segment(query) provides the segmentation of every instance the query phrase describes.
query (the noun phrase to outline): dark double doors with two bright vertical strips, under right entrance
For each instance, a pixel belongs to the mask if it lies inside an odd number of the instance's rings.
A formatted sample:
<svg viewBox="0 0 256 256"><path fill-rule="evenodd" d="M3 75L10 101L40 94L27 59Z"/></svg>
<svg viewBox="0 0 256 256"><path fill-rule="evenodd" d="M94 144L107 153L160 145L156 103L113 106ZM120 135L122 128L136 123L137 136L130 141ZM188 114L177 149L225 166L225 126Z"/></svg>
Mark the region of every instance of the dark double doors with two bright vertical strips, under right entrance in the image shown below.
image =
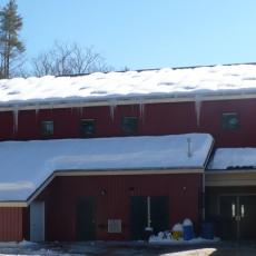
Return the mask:
<svg viewBox="0 0 256 256"><path fill-rule="evenodd" d="M256 239L256 196L221 196L219 207L224 239Z"/></svg>

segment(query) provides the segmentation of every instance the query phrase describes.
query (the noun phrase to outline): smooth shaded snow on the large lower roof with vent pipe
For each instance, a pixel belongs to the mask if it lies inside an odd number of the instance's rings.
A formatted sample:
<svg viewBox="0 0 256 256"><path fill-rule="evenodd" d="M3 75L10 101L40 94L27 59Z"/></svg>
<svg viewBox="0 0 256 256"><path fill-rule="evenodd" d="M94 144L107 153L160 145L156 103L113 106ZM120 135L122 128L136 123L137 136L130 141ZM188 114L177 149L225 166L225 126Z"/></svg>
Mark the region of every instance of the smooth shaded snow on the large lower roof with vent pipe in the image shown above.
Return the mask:
<svg viewBox="0 0 256 256"><path fill-rule="evenodd" d="M28 199L55 170L204 168L211 144L207 134L0 142L0 200Z"/></svg>

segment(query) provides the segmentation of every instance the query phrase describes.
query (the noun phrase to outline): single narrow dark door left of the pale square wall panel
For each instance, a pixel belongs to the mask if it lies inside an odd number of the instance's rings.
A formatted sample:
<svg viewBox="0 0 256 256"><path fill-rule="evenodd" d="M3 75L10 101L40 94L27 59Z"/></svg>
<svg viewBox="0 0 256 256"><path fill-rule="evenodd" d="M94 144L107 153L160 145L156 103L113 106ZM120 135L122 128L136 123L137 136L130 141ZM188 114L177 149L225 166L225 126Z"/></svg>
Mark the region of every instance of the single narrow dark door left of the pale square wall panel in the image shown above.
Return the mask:
<svg viewBox="0 0 256 256"><path fill-rule="evenodd" d="M96 239L96 200L81 197L77 201L77 240Z"/></svg>

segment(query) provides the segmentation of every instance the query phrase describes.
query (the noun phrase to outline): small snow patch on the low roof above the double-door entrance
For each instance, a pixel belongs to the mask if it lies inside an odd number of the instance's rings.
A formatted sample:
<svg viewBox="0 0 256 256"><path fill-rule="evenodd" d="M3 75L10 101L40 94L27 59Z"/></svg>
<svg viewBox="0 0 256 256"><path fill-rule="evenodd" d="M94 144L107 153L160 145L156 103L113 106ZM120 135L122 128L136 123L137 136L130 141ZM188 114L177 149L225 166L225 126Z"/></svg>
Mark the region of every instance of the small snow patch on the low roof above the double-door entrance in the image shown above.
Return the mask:
<svg viewBox="0 0 256 256"><path fill-rule="evenodd" d="M256 148L218 148L207 169L252 169L256 168Z"/></svg>

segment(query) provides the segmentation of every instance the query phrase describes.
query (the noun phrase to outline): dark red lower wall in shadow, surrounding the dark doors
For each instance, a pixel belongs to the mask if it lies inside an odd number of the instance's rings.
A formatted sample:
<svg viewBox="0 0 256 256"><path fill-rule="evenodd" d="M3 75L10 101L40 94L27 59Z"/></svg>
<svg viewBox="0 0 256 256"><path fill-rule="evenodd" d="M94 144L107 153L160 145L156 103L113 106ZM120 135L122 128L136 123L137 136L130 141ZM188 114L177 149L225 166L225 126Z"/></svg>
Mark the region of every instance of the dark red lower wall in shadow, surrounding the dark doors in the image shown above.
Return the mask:
<svg viewBox="0 0 256 256"><path fill-rule="evenodd" d="M199 174L57 177L38 199L46 201L48 240L76 240L76 201L81 196L96 198L97 239L129 239L130 196L168 196L171 228L186 217L198 224L199 187ZM102 188L107 191L105 196L100 195ZM122 220L121 234L107 233L111 218Z"/></svg>

